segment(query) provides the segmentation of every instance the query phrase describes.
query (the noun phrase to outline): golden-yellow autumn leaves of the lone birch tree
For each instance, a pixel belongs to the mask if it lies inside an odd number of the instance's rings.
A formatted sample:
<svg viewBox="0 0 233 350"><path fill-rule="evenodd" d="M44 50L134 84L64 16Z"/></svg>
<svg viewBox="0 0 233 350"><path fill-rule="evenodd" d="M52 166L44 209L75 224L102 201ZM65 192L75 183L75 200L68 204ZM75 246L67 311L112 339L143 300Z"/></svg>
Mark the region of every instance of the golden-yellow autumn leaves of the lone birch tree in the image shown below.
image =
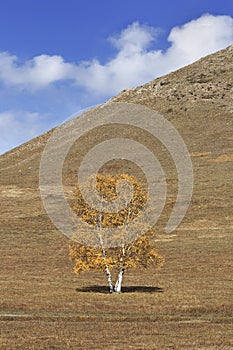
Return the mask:
<svg viewBox="0 0 233 350"><path fill-rule="evenodd" d="M74 211L89 225L99 228L101 237L101 228L122 227L127 231L127 224L130 223L140 211L144 208L147 201L147 194L142 185L132 176L120 174L116 176L97 175L96 179L90 178L85 184L88 191L93 181L96 181L96 189L101 197L106 201L113 201L117 198L117 182L126 180L133 187L133 196L127 207L117 213L102 212L101 216L98 210L88 205L77 187L75 190ZM101 217L101 222L99 222ZM138 227L140 230L140 227ZM128 233L128 232L127 232ZM75 239L75 237L74 237ZM141 269L150 265L161 267L163 258L158 255L155 248L151 245L151 232L147 232L127 243L122 239L122 243L114 248L106 248L103 245L99 247L90 247L72 241L70 244L70 258L74 261L75 273L87 270L104 270L107 268L123 269Z"/></svg>

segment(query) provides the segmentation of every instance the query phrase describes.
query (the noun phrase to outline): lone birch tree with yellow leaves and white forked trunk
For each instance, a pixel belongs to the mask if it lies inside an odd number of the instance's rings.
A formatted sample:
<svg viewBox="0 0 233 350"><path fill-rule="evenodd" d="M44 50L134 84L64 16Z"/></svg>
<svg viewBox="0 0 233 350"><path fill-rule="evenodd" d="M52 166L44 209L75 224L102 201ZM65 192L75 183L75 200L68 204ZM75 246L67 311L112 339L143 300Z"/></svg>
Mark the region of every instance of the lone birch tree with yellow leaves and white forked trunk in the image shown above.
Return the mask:
<svg viewBox="0 0 233 350"><path fill-rule="evenodd" d="M120 189L119 182L121 183ZM96 200L89 196L93 185L96 186L101 198L101 205L98 209L96 209ZM70 258L74 261L75 273L105 270L110 293L120 293L125 270L147 268L151 265L162 266L163 258L151 244L153 232L149 230L140 235L142 224L136 223L132 226L134 219L144 209L147 202L146 191L143 190L139 181L127 174L115 176L98 174L96 177L89 178L83 184L82 189L82 192L79 186L75 189L73 209L81 220L95 228L97 240L96 244L81 244L77 242L76 234L74 234L70 244ZM119 210L116 211L114 206L116 206L116 199L119 198L120 192L123 195L117 202ZM89 203L84 199L88 196ZM127 203L129 198L130 201ZM105 229L112 229L111 241L105 240ZM80 236L80 232L77 234ZM112 269L117 271L115 284L112 281Z"/></svg>

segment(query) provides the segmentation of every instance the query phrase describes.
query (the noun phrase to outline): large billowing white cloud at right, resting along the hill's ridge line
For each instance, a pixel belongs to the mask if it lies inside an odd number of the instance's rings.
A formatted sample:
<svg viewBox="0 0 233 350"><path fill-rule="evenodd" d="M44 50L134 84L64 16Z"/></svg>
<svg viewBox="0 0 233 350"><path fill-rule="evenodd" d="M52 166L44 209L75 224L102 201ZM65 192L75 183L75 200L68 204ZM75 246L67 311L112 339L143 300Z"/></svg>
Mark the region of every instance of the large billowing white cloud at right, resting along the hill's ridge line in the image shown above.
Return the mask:
<svg viewBox="0 0 233 350"><path fill-rule="evenodd" d="M116 57L105 65L90 62L77 76L77 83L102 94L143 84L232 44L233 18L206 14L174 27L165 52L149 49L156 35L154 28L132 24L113 40L119 49Z"/></svg>

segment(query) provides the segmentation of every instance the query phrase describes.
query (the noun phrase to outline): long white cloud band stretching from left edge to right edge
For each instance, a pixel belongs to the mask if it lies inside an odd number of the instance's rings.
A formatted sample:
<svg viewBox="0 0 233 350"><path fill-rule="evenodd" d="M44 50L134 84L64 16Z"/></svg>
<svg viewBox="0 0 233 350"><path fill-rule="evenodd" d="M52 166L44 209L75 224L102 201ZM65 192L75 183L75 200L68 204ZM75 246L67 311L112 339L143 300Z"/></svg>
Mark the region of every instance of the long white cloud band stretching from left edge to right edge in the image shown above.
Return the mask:
<svg viewBox="0 0 233 350"><path fill-rule="evenodd" d="M233 42L233 18L203 15L174 27L165 51L153 50L158 29L135 22L110 42L117 48L114 58L69 63L61 56L41 55L17 64L17 57L0 54L0 80L6 85L41 89L49 84L71 80L80 88L100 96L113 95L166 74Z"/></svg>

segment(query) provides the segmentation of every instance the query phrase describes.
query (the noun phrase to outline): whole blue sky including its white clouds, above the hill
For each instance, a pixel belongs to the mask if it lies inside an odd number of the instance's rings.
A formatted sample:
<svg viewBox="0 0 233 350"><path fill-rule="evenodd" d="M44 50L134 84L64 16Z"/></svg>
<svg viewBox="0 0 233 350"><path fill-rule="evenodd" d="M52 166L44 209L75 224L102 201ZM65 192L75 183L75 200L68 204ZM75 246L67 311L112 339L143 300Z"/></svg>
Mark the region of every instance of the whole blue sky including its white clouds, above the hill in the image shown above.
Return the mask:
<svg viewBox="0 0 233 350"><path fill-rule="evenodd" d="M232 43L229 0L2 0L0 153Z"/></svg>

